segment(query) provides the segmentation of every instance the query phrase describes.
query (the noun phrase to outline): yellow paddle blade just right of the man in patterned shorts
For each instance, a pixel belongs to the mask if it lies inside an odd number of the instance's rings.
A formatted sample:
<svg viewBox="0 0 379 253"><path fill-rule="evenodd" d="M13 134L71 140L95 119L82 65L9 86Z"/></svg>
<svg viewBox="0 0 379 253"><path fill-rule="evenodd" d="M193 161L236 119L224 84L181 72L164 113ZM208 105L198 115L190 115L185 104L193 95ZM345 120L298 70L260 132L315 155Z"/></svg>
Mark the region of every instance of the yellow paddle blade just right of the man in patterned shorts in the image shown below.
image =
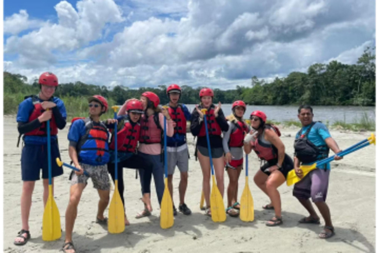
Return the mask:
<svg viewBox="0 0 379 253"><path fill-rule="evenodd" d="M109 206L108 232L111 234L122 233L125 229L124 205L118 192L118 180L114 180L114 194Z"/></svg>

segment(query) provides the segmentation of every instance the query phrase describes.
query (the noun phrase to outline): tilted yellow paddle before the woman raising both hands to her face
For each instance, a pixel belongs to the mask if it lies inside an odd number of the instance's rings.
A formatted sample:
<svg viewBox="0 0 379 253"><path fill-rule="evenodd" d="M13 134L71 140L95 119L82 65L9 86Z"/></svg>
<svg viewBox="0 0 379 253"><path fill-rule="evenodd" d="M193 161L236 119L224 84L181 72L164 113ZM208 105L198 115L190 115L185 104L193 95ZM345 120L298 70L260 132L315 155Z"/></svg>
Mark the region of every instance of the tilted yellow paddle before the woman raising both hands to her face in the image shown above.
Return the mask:
<svg viewBox="0 0 379 253"><path fill-rule="evenodd" d="M216 180L215 180L215 173L213 170L212 153L211 153L211 143L209 142L209 135L208 135L206 111L207 109L201 109L201 112L204 114L205 133L207 137L208 154L209 154L209 161L211 163L211 172L212 172L211 214L212 214L212 220L214 222L224 222L227 219L227 213L225 212L223 196L221 196L221 193L219 191L219 188L217 187Z"/></svg>

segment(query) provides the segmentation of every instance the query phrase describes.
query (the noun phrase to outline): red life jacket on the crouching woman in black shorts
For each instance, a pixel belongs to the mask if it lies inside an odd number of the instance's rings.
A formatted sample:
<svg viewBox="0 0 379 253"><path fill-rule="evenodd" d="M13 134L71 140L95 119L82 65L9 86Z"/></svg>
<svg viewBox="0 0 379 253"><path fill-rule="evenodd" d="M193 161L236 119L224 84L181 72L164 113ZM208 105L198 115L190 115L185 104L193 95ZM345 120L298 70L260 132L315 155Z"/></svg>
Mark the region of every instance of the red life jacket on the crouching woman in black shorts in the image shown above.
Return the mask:
<svg viewBox="0 0 379 253"><path fill-rule="evenodd" d="M273 129L280 137L281 133L278 127L270 124L265 124L265 129L266 128ZM251 141L250 144L252 146L252 149L261 160L270 161L278 157L278 149L272 144L263 142L261 138L256 138L254 141Z"/></svg>

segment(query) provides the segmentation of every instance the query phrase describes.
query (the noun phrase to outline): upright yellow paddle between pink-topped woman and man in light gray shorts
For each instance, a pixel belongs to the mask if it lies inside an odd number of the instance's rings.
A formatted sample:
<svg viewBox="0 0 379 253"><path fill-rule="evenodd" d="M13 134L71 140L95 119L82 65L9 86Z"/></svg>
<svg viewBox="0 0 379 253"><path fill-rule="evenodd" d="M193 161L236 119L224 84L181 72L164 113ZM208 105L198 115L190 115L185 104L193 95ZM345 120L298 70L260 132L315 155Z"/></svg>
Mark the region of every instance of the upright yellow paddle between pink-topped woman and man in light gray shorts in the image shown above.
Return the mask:
<svg viewBox="0 0 379 253"><path fill-rule="evenodd" d="M164 107L167 108L167 107ZM166 129L166 117L164 117L164 128L163 128L163 138L164 138L164 192L162 197L162 202L160 203L160 227L163 229L170 228L174 225L174 211L172 205L172 199L170 191L168 190L167 184L167 129Z"/></svg>

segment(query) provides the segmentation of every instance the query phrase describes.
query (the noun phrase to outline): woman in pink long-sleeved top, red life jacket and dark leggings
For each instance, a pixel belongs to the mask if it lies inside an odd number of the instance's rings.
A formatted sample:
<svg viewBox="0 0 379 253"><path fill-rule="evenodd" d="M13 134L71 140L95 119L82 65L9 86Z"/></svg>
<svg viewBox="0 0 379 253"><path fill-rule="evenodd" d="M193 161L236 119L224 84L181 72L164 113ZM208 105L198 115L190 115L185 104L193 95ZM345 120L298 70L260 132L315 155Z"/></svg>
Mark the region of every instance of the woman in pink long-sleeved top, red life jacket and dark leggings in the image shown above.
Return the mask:
<svg viewBox="0 0 379 253"><path fill-rule="evenodd" d="M164 191L164 166L162 157L163 127L164 117L167 118L167 136L174 134L175 123L171 120L166 109L158 108L159 97L150 91L146 91L141 96L145 113L141 117L141 133L139 139L138 154L146 161L152 163L152 167L140 169L140 180L142 187L142 201L145 209L138 213L136 218L151 215L152 205L150 196L150 184L154 177L155 191L160 205Z"/></svg>

